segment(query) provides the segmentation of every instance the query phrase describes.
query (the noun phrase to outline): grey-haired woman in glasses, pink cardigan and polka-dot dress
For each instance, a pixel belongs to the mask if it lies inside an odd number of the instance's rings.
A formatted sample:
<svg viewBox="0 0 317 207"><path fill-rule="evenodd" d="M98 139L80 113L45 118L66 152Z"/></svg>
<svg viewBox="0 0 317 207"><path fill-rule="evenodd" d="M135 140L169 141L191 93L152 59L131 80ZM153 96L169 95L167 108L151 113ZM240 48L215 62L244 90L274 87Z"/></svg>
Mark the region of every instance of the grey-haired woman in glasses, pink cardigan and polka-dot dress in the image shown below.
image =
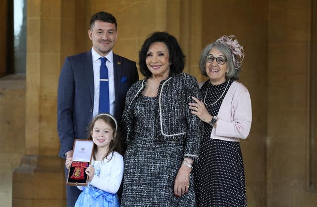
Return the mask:
<svg viewBox="0 0 317 207"><path fill-rule="evenodd" d="M244 166L240 139L251 128L251 99L248 89L238 83L244 58L235 36L222 36L201 53L200 70L209 80L193 97L191 113L204 123L199 160L194 166L198 207L246 207Z"/></svg>

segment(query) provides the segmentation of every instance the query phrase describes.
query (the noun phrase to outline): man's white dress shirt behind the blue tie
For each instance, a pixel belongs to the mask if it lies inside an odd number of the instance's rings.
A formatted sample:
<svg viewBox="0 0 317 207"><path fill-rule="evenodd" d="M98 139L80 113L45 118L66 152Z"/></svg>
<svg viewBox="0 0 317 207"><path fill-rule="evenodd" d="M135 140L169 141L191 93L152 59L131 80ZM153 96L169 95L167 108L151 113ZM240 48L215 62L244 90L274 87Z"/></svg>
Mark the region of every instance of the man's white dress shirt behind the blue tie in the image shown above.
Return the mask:
<svg viewBox="0 0 317 207"><path fill-rule="evenodd" d="M91 48L91 53L93 56L93 69L94 69L94 87L95 87L95 98L94 98L94 111L93 117L99 114L99 85L100 85L100 65L101 58L94 48ZM109 104L110 104L110 114L114 115L115 106L115 94L114 94L114 74L113 74L113 52L112 50L105 56L106 66L108 68L108 83L109 83Z"/></svg>

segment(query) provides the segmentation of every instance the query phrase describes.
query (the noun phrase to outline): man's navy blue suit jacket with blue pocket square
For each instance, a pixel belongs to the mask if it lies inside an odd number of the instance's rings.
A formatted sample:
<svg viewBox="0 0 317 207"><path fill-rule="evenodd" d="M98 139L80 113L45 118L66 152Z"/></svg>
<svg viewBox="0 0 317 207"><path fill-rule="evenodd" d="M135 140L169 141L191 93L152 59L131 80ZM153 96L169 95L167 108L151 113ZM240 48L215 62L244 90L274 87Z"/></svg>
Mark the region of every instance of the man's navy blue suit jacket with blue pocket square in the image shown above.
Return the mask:
<svg viewBox="0 0 317 207"><path fill-rule="evenodd" d="M120 122L129 87L139 80L136 63L113 54L115 119ZM73 149L74 139L86 139L93 118L94 71L91 51L66 57L57 89L59 156Z"/></svg>

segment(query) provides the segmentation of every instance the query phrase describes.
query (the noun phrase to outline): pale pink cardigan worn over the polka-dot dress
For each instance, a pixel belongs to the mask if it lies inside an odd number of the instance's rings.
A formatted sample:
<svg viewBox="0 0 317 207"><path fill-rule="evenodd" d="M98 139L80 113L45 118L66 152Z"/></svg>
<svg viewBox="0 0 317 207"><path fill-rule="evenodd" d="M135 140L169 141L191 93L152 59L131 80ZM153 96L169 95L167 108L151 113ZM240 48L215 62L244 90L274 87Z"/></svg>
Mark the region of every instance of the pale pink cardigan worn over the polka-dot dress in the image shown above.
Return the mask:
<svg viewBox="0 0 317 207"><path fill-rule="evenodd" d="M249 135L252 121L251 99L248 89L234 81L228 89L212 128L211 139L239 141Z"/></svg>

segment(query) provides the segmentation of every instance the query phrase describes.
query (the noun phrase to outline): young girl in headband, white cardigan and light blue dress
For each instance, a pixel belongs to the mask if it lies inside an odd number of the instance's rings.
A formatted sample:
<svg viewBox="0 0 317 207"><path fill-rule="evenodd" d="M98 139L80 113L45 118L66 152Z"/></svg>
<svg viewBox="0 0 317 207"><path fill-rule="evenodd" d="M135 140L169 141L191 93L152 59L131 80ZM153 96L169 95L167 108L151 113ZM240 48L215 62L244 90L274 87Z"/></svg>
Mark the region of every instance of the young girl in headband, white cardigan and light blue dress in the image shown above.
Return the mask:
<svg viewBox="0 0 317 207"><path fill-rule="evenodd" d="M83 192L75 207L119 207L116 192L122 181L123 157L116 152L119 150L117 125L109 114L97 115L90 124L89 139L95 143L93 160L85 170L88 186L77 186ZM72 158L66 160L67 168L71 162Z"/></svg>

